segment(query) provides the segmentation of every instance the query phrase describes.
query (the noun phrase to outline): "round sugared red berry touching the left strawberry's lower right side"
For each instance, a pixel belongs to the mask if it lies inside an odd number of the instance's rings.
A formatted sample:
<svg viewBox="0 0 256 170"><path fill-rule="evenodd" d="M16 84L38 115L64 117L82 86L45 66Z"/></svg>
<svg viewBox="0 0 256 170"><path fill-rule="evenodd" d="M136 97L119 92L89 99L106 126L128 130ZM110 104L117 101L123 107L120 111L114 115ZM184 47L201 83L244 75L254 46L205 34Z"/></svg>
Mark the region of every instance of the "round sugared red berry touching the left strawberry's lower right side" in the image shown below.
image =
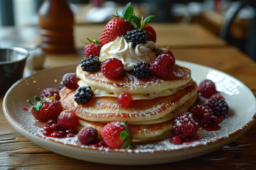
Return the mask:
<svg viewBox="0 0 256 170"><path fill-rule="evenodd" d="M58 116L58 126L62 129L75 128L76 126L76 115L70 110L64 110Z"/></svg>

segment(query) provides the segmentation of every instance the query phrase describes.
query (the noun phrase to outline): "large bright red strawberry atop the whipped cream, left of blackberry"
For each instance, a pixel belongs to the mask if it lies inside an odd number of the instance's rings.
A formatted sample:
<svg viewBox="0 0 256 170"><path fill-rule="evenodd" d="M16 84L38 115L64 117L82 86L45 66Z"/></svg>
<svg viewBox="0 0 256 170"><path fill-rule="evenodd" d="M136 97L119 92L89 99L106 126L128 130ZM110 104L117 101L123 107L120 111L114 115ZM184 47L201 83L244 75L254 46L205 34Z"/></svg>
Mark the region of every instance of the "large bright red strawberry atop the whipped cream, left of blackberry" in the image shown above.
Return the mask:
<svg viewBox="0 0 256 170"><path fill-rule="evenodd" d="M121 18L115 17L106 24L101 33L100 42L102 45L108 44L109 42L114 41L117 37L126 35L127 31L132 31L131 24L125 22L125 20Z"/></svg>

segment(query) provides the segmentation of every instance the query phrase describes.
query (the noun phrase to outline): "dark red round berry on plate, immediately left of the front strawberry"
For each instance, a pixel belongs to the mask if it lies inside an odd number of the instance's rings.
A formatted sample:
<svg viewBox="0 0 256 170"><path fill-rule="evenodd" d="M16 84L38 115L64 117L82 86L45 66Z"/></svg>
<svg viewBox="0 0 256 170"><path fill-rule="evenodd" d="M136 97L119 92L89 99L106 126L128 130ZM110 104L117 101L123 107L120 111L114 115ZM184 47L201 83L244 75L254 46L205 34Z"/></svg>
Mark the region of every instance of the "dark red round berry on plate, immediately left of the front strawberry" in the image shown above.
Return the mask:
<svg viewBox="0 0 256 170"><path fill-rule="evenodd" d="M91 126L87 126L80 130L77 138L83 145L93 144L98 140L98 131Z"/></svg>

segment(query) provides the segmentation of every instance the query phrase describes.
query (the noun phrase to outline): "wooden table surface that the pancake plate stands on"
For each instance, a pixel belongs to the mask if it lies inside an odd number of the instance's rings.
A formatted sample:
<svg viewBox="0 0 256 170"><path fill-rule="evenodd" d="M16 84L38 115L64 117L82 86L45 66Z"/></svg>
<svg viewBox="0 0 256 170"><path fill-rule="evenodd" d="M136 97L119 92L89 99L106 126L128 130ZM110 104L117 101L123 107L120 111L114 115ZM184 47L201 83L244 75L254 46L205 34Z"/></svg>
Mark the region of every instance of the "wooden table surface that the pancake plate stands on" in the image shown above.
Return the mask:
<svg viewBox="0 0 256 170"><path fill-rule="evenodd" d="M202 45L196 48L195 46L189 48L173 48L172 51L177 60L210 66L240 79L256 94L256 63L235 47L225 45L207 47ZM61 62L55 62L60 61L60 57L62 57ZM79 54L47 55L45 68L79 63L78 60L81 57ZM2 107L2 99L3 97L0 97L0 107ZM72 159L41 148L17 132L7 122L3 111L0 110L0 169L215 170L218 168L223 170L252 170L256 168L255 132L256 124L244 135L227 146L207 155L186 161L153 166L112 166Z"/></svg>

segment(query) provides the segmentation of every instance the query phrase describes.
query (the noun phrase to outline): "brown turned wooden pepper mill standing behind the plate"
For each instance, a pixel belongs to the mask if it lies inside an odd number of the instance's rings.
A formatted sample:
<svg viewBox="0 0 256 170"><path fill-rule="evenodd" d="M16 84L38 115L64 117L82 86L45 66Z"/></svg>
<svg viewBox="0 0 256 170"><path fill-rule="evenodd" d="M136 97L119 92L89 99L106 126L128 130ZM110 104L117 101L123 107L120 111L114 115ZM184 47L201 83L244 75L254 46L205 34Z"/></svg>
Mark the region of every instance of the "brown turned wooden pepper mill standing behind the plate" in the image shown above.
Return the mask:
<svg viewBox="0 0 256 170"><path fill-rule="evenodd" d="M39 9L42 49L45 53L72 53L74 17L66 0L44 0Z"/></svg>

